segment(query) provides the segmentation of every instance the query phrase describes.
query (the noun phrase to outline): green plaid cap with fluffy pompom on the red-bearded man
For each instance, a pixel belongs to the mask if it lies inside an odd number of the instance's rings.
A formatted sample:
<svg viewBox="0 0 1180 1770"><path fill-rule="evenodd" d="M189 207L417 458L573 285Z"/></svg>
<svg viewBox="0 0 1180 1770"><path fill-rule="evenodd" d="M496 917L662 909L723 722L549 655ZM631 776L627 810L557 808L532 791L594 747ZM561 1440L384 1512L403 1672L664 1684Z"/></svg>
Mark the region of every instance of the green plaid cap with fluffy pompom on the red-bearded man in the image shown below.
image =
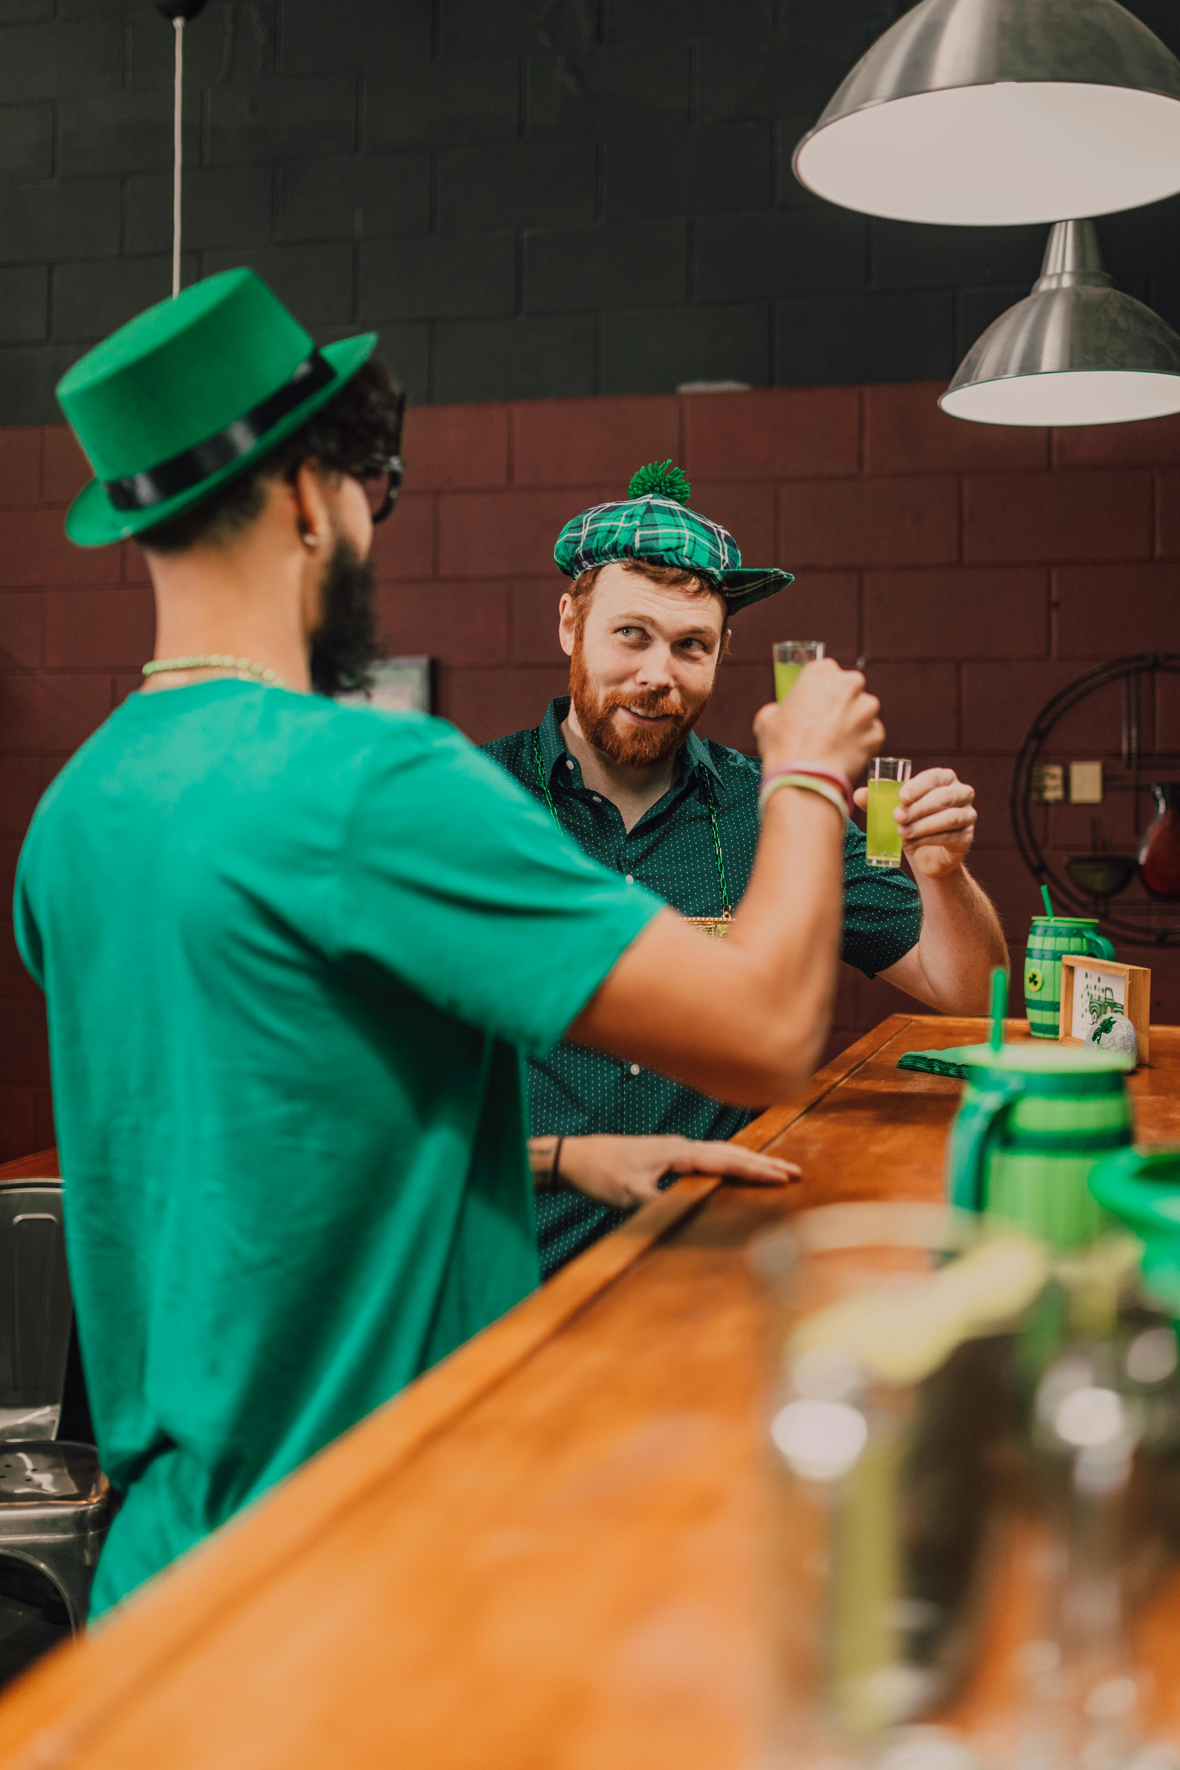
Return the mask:
<svg viewBox="0 0 1180 1770"><path fill-rule="evenodd" d="M566 522L554 547L559 570L580 577L612 559L681 566L718 589L731 614L794 582L793 572L777 566L743 568L729 529L688 510L690 494L688 480L670 460L649 462L632 478L626 499L594 504Z"/></svg>

